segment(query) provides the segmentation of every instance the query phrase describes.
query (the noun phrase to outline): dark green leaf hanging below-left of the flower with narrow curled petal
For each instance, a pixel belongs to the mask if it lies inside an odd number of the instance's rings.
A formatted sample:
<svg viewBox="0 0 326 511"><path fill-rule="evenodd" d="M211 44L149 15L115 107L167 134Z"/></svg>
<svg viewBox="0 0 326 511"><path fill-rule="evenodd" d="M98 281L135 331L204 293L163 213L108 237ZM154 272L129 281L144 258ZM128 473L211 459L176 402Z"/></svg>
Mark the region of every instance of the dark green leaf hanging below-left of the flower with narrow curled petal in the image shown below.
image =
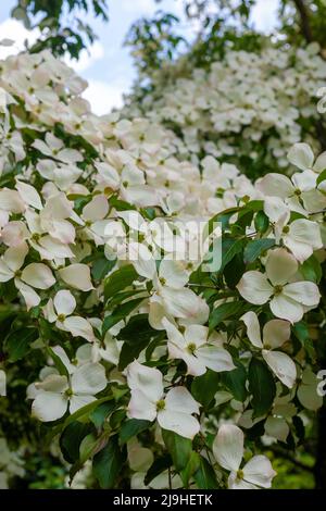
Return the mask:
<svg viewBox="0 0 326 511"><path fill-rule="evenodd" d="M267 365L259 359L251 359L249 364L249 391L252 395L251 406L254 416L267 413L273 404L276 385Z"/></svg>

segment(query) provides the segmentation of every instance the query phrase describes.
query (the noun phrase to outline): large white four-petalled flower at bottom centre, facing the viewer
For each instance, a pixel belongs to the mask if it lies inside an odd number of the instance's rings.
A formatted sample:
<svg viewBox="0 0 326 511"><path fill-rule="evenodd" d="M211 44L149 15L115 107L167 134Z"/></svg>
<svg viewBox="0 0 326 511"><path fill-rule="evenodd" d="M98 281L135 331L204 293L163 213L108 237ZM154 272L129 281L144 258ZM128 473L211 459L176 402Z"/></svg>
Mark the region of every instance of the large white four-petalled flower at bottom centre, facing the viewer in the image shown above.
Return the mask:
<svg viewBox="0 0 326 511"><path fill-rule="evenodd" d="M127 382L131 390L129 417L156 419L163 429L186 438L197 435L200 425L192 413L199 413L199 406L185 387L174 387L164 396L162 373L137 361L127 367Z"/></svg>

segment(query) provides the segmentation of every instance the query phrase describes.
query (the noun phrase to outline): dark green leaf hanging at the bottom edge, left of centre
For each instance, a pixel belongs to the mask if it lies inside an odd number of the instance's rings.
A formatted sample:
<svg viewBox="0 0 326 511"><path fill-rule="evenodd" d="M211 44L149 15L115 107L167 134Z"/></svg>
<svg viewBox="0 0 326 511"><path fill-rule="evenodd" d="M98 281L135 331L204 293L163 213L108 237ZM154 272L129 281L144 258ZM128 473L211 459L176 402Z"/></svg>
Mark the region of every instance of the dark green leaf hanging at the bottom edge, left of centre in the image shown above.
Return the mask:
<svg viewBox="0 0 326 511"><path fill-rule="evenodd" d="M92 472L101 488L114 487L125 458L125 450L120 448L117 435L111 437L105 447L93 457Z"/></svg>

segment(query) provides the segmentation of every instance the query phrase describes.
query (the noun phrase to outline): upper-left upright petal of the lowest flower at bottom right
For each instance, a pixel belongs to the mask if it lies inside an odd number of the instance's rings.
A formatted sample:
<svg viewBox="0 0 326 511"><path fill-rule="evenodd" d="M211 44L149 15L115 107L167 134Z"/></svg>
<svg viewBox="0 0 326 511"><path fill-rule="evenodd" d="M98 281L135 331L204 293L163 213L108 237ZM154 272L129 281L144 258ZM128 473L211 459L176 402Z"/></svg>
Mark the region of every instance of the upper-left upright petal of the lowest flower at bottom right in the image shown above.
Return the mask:
<svg viewBox="0 0 326 511"><path fill-rule="evenodd" d="M223 424L213 443L217 463L226 470L237 472L243 457L243 433L234 424Z"/></svg>

